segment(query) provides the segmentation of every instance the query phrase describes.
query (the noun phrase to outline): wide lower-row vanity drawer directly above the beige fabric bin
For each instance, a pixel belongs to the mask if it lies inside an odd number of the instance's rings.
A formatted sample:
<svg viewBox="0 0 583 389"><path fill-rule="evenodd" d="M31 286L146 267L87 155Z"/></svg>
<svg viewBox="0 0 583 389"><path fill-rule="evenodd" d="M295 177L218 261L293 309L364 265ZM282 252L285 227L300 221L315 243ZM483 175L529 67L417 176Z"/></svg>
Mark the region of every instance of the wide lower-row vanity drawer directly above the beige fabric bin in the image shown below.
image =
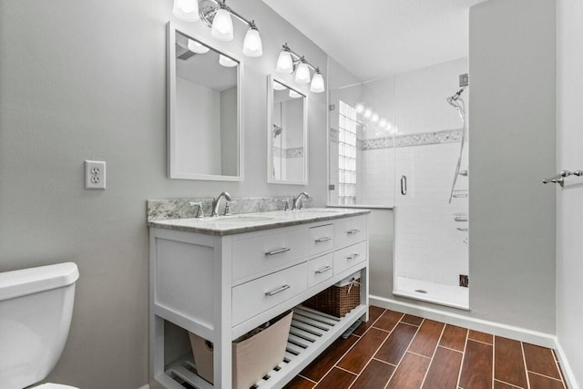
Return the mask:
<svg viewBox="0 0 583 389"><path fill-rule="evenodd" d="M308 289L307 268L303 262L232 288L233 326Z"/></svg>

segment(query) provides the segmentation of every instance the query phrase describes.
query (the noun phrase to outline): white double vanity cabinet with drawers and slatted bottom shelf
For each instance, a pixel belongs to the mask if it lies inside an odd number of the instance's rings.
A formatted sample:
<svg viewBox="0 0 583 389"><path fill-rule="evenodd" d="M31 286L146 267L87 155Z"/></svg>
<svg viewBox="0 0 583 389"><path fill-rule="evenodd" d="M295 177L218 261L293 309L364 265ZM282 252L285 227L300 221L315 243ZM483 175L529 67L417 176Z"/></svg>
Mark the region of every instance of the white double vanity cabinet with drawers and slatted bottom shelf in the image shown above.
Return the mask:
<svg viewBox="0 0 583 389"><path fill-rule="evenodd" d="M213 387L193 373L191 355L165 361L165 321L214 344L214 387L230 389L232 341L281 312L294 312L287 352L261 388L287 384L353 322L368 320L367 211L331 213L240 230L150 222L150 387L182 389L176 377ZM302 307L359 270L361 304L342 319Z"/></svg>

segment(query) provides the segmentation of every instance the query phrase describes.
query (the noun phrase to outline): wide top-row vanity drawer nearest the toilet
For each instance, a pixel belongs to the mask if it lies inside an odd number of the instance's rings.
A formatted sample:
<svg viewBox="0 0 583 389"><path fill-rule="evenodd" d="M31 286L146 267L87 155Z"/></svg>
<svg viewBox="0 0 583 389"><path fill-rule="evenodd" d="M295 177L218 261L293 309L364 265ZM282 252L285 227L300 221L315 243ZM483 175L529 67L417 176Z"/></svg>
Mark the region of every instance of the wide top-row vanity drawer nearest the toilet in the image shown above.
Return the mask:
<svg viewBox="0 0 583 389"><path fill-rule="evenodd" d="M232 280L269 271L307 256L307 229L233 241Z"/></svg>

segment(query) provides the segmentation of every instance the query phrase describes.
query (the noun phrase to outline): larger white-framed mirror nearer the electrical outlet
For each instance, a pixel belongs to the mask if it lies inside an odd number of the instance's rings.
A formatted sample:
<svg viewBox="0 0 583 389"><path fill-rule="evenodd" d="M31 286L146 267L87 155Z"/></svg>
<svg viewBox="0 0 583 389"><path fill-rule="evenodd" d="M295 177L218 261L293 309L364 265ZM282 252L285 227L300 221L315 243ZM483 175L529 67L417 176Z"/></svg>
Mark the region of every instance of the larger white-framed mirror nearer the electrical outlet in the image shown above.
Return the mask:
<svg viewBox="0 0 583 389"><path fill-rule="evenodd" d="M241 61L168 24L169 179L243 179Z"/></svg>

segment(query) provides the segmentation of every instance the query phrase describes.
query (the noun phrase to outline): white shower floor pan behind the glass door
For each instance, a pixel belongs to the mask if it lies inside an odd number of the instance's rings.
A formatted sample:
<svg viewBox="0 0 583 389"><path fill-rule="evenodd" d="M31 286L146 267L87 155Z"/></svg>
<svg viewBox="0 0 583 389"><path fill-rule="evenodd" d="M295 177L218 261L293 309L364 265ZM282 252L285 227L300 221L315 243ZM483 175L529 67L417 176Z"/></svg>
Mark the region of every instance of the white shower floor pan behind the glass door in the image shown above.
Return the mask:
<svg viewBox="0 0 583 389"><path fill-rule="evenodd" d="M469 311L469 288L439 282L397 277L393 294L422 302Z"/></svg>

